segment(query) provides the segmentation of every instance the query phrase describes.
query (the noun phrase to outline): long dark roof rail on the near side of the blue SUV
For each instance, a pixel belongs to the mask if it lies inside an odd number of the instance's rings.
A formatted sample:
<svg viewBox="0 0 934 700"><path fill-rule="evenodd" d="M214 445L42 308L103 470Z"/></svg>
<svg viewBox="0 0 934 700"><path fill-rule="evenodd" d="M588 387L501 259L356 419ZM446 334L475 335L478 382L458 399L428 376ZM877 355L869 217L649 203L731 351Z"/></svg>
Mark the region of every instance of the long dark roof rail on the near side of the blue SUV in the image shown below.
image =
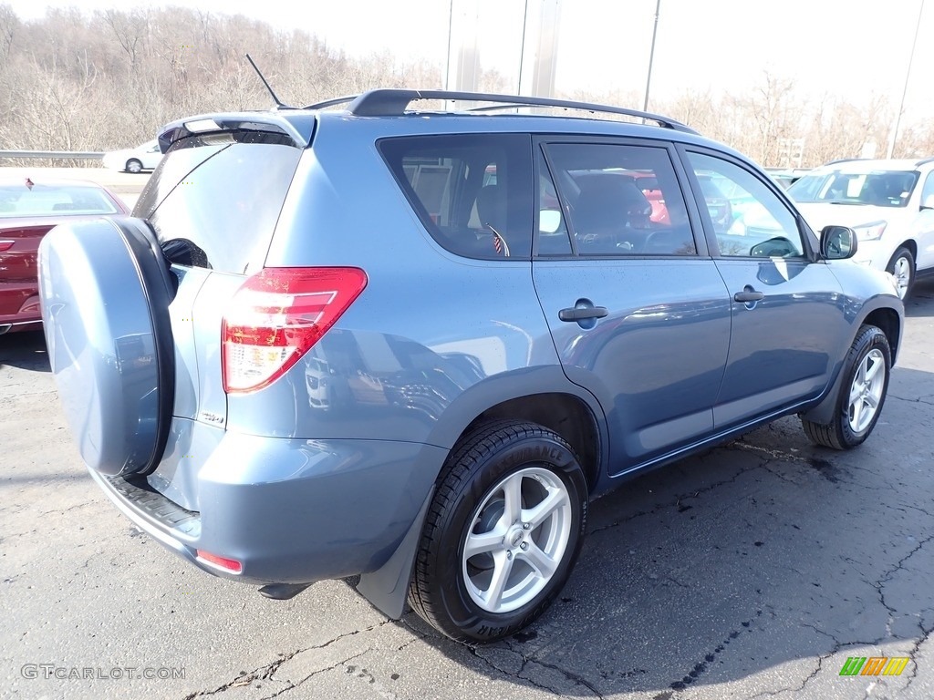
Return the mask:
<svg viewBox="0 0 934 700"><path fill-rule="evenodd" d="M636 119L655 121L659 126L679 132L697 133L680 121L663 117L651 112L641 112L636 109L617 107L613 105L597 105L589 102L573 102L570 100L556 100L551 97L530 97L526 95L501 95L488 92L457 92L446 90L401 90L380 89L371 90L356 97L338 97L333 100L309 105L306 109L322 109L328 106L350 103L349 112L359 117L396 117L405 114L409 103L416 100L462 100L470 102L499 103L493 106L475 107L468 110L472 112L485 112L498 109L509 109L522 106L560 107L564 109L580 109L586 112L602 112L605 114L621 114Z"/></svg>

